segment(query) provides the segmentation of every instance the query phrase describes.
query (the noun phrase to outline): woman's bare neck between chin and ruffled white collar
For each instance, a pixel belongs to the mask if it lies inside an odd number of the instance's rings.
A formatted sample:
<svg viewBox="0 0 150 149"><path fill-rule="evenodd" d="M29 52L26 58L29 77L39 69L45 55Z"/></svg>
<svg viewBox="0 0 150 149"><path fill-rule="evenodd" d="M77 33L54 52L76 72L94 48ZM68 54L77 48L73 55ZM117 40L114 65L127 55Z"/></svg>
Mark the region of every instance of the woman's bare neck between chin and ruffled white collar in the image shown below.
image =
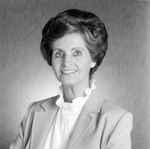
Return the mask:
<svg viewBox="0 0 150 149"><path fill-rule="evenodd" d="M63 85L63 94L65 102L72 102L77 97L85 96L84 91L89 88L89 83L82 83L76 86L65 86Z"/></svg>

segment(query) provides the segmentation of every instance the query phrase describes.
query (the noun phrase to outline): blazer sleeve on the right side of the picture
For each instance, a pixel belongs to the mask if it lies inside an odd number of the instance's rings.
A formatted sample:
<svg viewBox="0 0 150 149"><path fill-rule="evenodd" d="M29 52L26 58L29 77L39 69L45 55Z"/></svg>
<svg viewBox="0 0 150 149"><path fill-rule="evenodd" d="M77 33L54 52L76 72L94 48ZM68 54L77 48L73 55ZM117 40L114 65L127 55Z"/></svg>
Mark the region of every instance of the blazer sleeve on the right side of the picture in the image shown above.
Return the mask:
<svg viewBox="0 0 150 149"><path fill-rule="evenodd" d="M131 149L133 116L125 113L116 123L107 142L106 149Z"/></svg>

